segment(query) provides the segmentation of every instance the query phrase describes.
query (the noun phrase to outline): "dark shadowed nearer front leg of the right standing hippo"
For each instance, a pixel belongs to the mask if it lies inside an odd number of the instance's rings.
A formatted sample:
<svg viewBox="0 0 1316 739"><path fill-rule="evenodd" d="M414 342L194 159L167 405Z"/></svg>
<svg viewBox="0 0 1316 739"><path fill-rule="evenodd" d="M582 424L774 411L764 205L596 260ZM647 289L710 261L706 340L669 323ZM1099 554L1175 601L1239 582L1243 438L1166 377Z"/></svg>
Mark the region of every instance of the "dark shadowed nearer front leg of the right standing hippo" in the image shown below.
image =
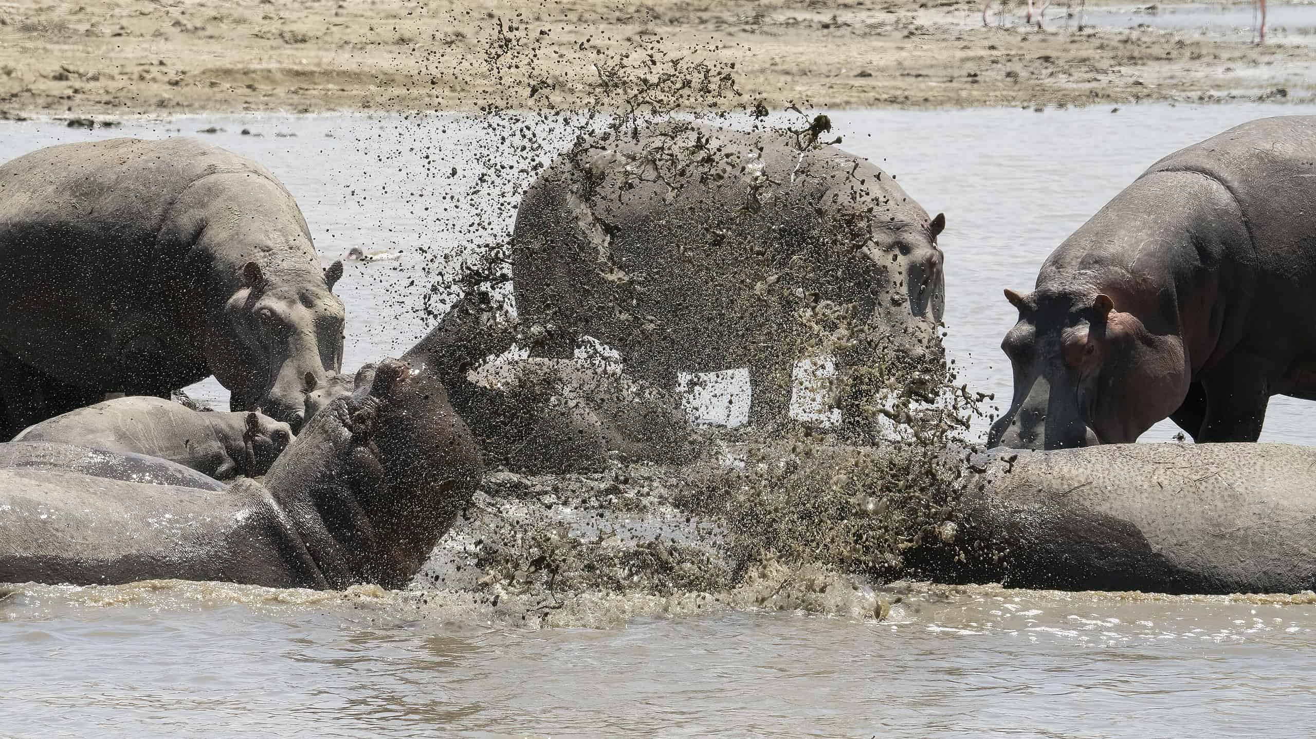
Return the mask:
<svg viewBox="0 0 1316 739"><path fill-rule="evenodd" d="M1270 366L1250 356L1232 358L1202 379L1207 413L1194 441L1255 442L1270 402Z"/></svg>

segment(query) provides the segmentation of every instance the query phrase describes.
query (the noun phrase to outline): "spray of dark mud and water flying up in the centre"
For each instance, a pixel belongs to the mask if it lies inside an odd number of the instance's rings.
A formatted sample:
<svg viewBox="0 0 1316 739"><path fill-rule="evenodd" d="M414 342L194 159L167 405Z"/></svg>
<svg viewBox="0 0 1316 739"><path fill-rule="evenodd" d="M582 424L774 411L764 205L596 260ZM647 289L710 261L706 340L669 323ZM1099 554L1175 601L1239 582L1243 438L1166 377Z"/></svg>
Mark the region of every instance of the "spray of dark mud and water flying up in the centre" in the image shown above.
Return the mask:
<svg viewBox="0 0 1316 739"><path fill-rule="evenodd" d="M599 160L625 159L621 170L632 172L634 183L622 183L621 191L658 180L669 197L679 197L682 187L726 181L744 184L742 197L754 201L780 181L746 175L744 156L709 143L700 133L708 129L699 125L784 139L801 162L826 145L844 143L826 116L809 112L807 101L769 110L746 95L734 66L720 62L715 47L678 49L650 34L600 38L565 51L551 43L553 32L547 21L492 18L483 58L453 63L443 59L442 45L411 51L433 60L432 78L417 84L441 88L445 75L454 74L491 80L474 125L482 141L496 143L462 155L461 167L480 172L468 188L449 189L459 167L447 167L453 155L442 137L470 134L457 124L441 125L440 138L430 138L433 128L417 128L412 141L400 141L382 156L422 167L433 189L418 197L434 204L436 227L457 229L470 245L457 255L425 254L424 272L433 287L421 305L405 309L459 338L454 351L465 356L454 360L459 370L450 380L454 400L466 404L472 426L503 431L499 439L492 431L482 434L492 471L415 586L466 592L495 609L546 623L563 611L578 618L599 598L636 604L646 597L690 601L695 609L730 602L796 608L801 598L841 597L848 605L840 610L883 617L890 604L883 605L866 583L904 573L903 554L920 542L951 538L961 475L955 450L966 446L969 418L983 400L957 387L934 327L928 331L930 351L912 355L907 345L892 341L891 323L908 312L899 298L903 284L875 283L886 291L871 312L879 320L854 320L863 313L858 298L808 300L799 280L791 279L791 270L800 267L790 263L783 279L770 268L771 255L763 259L754 285L758 300L787 305L780 313L807 329L770 326L765 351L865 358L836 383L833 397L845 398L836 402L842 417L837 427L695 429L657 413L651 417L662 419L661 427L655 422L625 435L666 439L666 456L646 459L620 444L604 444L603 455L554 456L547 448L536 451L536 442L541 435L583 434L575 413L582 405L634 406L641 397L646 402L666 397L679 412L679 398L670 388L617 379L617 358L605 350L580 362L604 377L587 393L572 393L553 371L529 379L521 373L509 387L507 375L500 380L499 371L488 368L488 355L511 350L516 356L517 348L524 354L554 329L516 317L508 291L515 277L509 247L515 213L500 205L517 203L546 168L575 172L570 195L591 221L582 227L600 237L594 239L601 245L596 271L616 284L630 276L608 252L609 225L592 217L588 205L601 192L591 176ZM563 54L587 63L566 63ZM590 104L582 107L580 100ZM670 135L645 138L665 122L674 122L665 129ZM829 249L857 250L871 241L871 218L865 214L884 205L882 195L871 183L851 188L851 195L857 205L849 217L821 230L820 242ZM696 279L716 280L741 268L733 262L763 255L771 237L770 225L754 220L754 208L734 213L734 222L720 231L713 224L720 216L712 210L703 214L708 230L738 249L695 250L682 268ZM626 316L633 310L624 301L599 309ZM713 314L725 306L703 310ZM659 318L636 320L646 330L662 331ZM480 372L483 381L476 380ZM550 468L559 473L533 473Z"/></svg>

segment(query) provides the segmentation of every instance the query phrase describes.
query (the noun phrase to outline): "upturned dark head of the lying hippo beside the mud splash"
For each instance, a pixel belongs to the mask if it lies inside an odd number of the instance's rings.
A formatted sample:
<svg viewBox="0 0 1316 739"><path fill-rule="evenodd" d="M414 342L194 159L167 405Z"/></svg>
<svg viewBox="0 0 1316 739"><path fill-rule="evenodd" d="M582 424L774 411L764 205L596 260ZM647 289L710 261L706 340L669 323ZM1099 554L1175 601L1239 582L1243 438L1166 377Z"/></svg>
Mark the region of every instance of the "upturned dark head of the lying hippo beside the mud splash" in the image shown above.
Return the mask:
<svg viewBox="0 0 1316 739"><path fill-rule="evenodd" d="M387 359L315 414L266 487L324 521L330 540L308 548L332 586L401 588L470 501L480 471L475 441L437 379Z"/></svg>

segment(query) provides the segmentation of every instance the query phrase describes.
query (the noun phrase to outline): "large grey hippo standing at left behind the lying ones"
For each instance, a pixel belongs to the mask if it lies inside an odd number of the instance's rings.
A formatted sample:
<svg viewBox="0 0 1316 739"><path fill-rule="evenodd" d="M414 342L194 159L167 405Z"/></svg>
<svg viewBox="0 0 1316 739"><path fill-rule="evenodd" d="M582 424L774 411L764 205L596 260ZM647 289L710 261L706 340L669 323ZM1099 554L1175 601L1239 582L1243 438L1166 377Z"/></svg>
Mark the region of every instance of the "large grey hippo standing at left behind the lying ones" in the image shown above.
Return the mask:
<svg viewBox="0 0 1316 739"><path fill-rule="evenodd" d="M215 375L296 430L342 363L342 302L268 170L190 138L51 146L0 166L0 439L107 393Z"/></svg>

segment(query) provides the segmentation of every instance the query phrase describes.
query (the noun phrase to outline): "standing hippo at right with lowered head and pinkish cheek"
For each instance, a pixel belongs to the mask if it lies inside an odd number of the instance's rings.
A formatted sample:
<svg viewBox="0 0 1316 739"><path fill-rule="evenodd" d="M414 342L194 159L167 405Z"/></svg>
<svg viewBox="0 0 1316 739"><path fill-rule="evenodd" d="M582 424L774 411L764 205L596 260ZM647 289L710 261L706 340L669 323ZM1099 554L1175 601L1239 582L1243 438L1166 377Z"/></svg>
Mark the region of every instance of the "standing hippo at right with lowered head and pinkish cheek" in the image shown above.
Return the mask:
<svg viewBox="0 0 1316 739"><path fill-rule="evenodd" d="M1316 117L1261 118L1153 164L1046 259L1001 342L988 444L1132 442L1170 418L1254 442L1273 394L1316 400Z"/></svg>

